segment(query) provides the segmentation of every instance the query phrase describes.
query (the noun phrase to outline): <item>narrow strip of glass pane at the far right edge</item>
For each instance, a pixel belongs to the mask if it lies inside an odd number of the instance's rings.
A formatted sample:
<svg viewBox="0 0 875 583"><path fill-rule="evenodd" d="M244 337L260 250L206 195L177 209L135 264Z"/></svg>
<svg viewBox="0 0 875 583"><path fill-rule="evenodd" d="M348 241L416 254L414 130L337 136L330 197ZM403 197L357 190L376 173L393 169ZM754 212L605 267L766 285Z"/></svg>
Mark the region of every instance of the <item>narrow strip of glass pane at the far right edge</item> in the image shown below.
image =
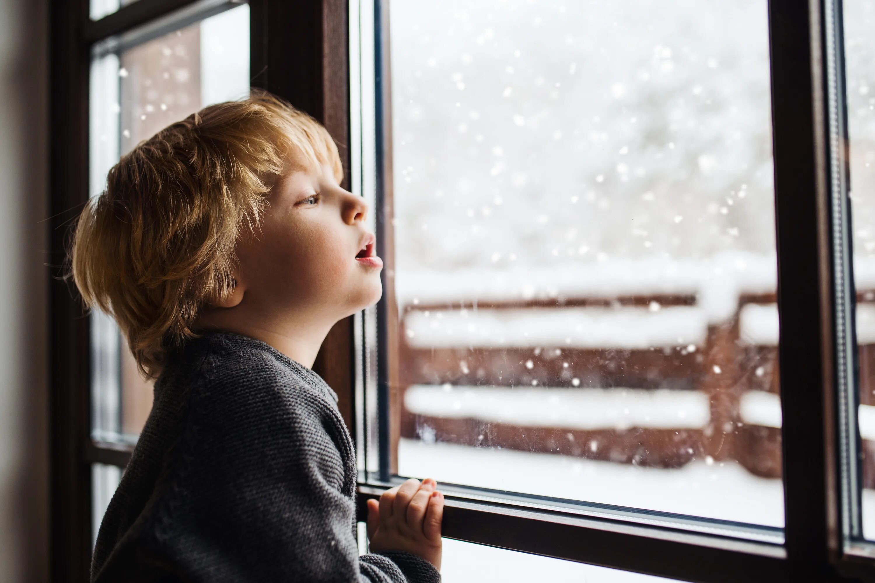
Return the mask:
<svg viewBox="0 0 875 583"><path fill-rule="evenodd" d="M875 2L844 0L851 232L857 288L863 531L875 537Z"/></svg>

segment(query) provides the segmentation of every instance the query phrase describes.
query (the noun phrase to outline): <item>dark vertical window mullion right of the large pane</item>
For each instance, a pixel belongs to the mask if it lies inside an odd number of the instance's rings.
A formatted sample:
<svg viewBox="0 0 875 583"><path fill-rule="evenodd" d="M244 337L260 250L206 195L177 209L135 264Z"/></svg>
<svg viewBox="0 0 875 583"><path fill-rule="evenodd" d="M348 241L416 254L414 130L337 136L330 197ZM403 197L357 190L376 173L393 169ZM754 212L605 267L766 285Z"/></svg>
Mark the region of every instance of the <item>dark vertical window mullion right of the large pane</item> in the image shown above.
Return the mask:
<svg viewBox="0 0 875 583"><path fill-rule="evenodd" d="M837 550L834 314L823 0L769 3L786 545L796 578Z"/></svg>

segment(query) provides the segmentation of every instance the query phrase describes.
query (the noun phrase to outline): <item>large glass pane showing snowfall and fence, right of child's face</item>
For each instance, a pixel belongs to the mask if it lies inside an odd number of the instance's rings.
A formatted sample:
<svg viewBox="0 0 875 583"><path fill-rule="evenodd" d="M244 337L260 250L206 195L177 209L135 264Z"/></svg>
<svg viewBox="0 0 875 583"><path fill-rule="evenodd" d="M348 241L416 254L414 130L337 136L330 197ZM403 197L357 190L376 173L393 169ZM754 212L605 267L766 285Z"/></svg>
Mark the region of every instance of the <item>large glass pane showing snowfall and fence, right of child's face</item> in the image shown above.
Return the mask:
<svg viewBox="0 0 875 583"><path fill-rule="evenodd" d="M390 29L397 473L782 526L765 0Z"/></svg>

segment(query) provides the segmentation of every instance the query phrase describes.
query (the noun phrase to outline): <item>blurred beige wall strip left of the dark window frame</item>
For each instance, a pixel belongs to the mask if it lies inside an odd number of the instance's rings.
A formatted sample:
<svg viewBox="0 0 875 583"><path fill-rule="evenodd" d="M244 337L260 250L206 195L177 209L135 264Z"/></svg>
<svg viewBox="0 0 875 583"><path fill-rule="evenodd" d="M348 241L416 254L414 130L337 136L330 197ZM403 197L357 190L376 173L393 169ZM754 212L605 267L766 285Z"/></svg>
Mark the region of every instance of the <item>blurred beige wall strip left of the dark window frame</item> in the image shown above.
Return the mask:
<svg viewBox="0 0 875 583"><path fill-rule="evenodd" d="M0 579L48 577L46 0L0 0Z"/></svg>

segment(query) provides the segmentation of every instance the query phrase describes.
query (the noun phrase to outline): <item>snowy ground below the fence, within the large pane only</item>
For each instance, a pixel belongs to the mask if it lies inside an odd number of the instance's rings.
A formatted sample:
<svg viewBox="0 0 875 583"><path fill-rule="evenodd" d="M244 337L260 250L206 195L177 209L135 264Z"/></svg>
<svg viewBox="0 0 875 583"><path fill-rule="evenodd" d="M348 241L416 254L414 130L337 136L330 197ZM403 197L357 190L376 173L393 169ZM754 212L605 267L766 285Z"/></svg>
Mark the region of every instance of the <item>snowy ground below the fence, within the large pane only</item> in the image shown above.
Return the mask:
<svg viewBox="0 0 875 583"><path fill-rule="evenodd" d="M677 469L401 439L398 473L437 481L767 526L784 525L780 480L735 462Z"/></svg>

